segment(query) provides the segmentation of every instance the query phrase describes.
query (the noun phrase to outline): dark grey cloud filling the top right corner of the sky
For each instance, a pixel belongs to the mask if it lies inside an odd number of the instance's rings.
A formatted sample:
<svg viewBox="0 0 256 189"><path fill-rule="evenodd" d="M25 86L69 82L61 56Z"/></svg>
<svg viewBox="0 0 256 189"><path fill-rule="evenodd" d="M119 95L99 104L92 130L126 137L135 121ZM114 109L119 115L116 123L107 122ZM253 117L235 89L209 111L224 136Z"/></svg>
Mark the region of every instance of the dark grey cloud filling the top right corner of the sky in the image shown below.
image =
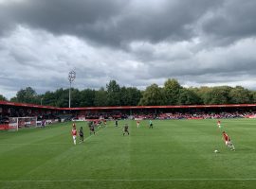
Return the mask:
<svg viewBox="0 0 256 189"><path fill-rule="evenodd" d="M241 38L255 37L256 1L228 0L210 12L202 30L218 44L235 43ZM212 42L212 41L211 41Z"/></svg>

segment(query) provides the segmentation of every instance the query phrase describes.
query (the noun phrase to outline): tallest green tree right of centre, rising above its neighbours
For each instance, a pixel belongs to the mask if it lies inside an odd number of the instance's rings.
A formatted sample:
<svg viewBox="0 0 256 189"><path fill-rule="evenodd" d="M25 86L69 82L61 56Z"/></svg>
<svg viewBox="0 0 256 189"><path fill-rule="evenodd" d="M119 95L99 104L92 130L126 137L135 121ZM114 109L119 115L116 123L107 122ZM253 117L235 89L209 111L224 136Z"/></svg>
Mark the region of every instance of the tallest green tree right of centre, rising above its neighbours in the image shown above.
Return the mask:
<svg viewBox="0 0 256 189"><path fill-rule="evenodd" d="M164 93L166 96L167 105L176 105L178 104L178 96L182 87L178 81L174 78L169 78L164 83Z"/></svg>

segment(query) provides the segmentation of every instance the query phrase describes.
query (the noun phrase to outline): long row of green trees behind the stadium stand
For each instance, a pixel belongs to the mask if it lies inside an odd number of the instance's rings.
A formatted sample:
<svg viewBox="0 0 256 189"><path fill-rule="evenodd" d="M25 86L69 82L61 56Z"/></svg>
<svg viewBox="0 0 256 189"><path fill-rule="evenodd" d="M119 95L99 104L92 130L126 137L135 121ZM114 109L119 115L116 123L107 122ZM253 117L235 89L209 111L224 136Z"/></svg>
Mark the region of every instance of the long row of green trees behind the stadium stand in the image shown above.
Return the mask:
<svg viewBox="0 0 256 189"><path fill-rule="evenodd" d="M34 89L27 87L18 91L10 101L68 107L68 90L61 88L55 92L37 94ZM256 92L242 86L185 88L174 78L167 79L162 87L152 84L141 91L110 80L105 88L99 90L72 88L71 99L72 107L249 104L256 103ZM0 100L6 98L0 95Z"/></svg>

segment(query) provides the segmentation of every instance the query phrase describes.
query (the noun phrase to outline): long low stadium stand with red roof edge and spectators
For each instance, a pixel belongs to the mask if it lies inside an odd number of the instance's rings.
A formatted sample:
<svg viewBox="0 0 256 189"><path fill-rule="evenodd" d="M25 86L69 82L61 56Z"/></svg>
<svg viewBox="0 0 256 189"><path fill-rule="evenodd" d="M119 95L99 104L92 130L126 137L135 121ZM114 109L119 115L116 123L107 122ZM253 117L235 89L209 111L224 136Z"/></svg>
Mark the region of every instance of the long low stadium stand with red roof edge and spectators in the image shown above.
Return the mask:
<svg viewBox="0 0 256 189"><path fill-rule="evenodd" d="M56 108L0 101L0 128L6 129L9 117L37 117L39 123L95 119L221 119L256 118L256 104L132 106ZM47 120L47 121L46 121Z"/></svg>

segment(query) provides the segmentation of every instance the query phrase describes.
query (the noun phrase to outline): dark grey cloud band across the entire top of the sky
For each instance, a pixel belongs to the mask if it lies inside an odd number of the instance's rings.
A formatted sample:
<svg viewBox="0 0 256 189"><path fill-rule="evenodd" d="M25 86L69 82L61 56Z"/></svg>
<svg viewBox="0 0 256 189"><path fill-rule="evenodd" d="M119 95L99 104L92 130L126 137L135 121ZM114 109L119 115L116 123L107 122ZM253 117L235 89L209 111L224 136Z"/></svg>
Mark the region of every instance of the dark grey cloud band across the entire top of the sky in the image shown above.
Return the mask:
<svg viewBox="0 0 256 189"><path fill-rule="evenodd" d="M20 0L0 5L0 33L24 25L109 46L194 37L223 45L255 36L255 9L254 0Z"/></svg>

